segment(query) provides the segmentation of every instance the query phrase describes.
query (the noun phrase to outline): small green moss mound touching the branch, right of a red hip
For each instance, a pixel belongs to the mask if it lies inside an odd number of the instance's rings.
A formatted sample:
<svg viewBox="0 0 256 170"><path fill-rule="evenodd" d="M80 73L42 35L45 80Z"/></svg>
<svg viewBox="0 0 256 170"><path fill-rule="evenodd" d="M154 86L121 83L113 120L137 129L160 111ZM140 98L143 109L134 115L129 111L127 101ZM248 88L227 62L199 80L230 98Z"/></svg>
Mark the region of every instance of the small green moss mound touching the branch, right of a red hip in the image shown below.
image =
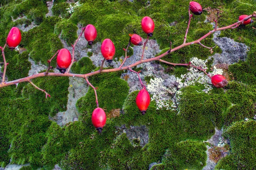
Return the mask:
<svg viewBox="0 0 256 170"><path fill-rule="evenodd" d="M95 69L89 57L83 57L78 62L74 62L71 71L75 74L87 74Z"/></svg>

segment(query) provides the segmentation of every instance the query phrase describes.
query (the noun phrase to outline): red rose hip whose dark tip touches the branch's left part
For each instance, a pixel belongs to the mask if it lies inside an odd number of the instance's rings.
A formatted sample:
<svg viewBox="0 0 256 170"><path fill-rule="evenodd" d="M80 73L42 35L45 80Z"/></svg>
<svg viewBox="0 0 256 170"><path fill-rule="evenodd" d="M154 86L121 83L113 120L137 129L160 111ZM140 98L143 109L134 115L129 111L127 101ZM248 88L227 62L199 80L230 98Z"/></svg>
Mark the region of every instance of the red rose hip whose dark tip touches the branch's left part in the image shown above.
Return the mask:
<svg viewBox="0 0 256 170"><path fill-rule="evenodd" d="M57 56L57 68L61 73L65 73L71 64L71 54L66 48L62 48Z"/></svg>

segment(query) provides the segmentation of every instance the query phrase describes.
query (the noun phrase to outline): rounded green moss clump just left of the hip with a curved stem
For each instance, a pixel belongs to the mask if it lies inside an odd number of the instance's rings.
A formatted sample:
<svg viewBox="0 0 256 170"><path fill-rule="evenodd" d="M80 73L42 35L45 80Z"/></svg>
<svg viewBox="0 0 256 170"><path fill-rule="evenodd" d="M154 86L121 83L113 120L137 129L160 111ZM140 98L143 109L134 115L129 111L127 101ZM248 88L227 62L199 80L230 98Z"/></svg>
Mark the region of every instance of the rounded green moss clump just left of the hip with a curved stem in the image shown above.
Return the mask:
<svg viewBox="0 0 256 170"><path fill-rule="evenodd" d="M65 40L68 45L73 44L77 37L77 26L71 23L69 20L61 20L55 25L55 34L61 34L61 39Z"/></svg>

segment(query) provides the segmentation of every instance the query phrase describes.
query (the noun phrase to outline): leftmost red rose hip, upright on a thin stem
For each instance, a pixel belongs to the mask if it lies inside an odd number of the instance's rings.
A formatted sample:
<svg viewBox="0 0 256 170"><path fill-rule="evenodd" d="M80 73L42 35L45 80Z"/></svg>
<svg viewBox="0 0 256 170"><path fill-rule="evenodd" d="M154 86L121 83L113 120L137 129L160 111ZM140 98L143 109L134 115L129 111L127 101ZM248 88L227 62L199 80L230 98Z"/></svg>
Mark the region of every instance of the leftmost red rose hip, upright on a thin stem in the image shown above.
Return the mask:
<svg viewBox="0 0 256 170"><path fill-rule="evenodd" d="M12 27L6 39L9 48L15 48L20 44L21 34L17 27Z"/></svg>

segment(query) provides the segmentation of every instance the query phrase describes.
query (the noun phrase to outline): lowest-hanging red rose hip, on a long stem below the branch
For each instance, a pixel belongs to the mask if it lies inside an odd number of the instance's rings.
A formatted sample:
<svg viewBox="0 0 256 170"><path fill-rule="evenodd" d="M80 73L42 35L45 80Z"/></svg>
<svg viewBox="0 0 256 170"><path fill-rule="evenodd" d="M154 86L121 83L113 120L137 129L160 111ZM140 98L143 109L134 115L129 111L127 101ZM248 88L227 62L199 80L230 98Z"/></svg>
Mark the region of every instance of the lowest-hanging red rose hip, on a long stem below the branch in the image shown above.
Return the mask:
<svg viewBox="0 0 256 170"><path fill-rule="evenodd" d="M92 123L99 133L102 132L102 128L105 126L106 120L107 120L106 113L102 108L94 109L92 114Z"/></svg>

